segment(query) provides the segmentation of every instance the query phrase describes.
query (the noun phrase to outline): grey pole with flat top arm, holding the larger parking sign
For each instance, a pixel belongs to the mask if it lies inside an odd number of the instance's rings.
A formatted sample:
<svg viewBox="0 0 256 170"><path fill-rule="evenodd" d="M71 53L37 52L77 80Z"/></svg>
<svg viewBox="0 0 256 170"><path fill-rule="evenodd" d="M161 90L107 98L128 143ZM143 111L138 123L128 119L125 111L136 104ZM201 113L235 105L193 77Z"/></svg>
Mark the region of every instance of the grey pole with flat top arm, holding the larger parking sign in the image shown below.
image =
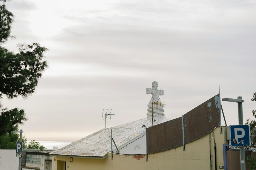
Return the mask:
<svg viewBox="0 0 256 170"><path fill-rule="evenodd" d="M236 102L238 104L238 124L244 124L244 119L243 119L243 102L242 97L239 96L237 99L231 99L231 98L225 98L222 99L222 101L227 101L227 102ZM232 142L232 141L231 141ZM241 165L241 170L246 170L246 164L245 164L245 147L240 147L240 165Z"/></svg>

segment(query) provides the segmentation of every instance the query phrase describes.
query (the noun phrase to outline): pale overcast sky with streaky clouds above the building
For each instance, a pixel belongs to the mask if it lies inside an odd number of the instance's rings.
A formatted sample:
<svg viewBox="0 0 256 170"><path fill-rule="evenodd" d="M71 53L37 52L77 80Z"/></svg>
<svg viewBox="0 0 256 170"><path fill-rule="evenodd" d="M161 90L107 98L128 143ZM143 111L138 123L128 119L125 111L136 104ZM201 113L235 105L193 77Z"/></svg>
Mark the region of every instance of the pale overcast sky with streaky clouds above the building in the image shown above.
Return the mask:
<svg viewBox="0 0 256 170"><path fill-rule="evenodd" d="M12 0L12 35L5 44L39 42L49 68L28 99L2 101L23 108L28 140L75 141L103 128L146 117L158 81L165 117L181 117L219 93L242 96L244 122L256 102L254 0ZM222 102L227 124L237 104ZM199 118L200 119L200 118ZM222 125L224 121L222 121Z"/></svg>

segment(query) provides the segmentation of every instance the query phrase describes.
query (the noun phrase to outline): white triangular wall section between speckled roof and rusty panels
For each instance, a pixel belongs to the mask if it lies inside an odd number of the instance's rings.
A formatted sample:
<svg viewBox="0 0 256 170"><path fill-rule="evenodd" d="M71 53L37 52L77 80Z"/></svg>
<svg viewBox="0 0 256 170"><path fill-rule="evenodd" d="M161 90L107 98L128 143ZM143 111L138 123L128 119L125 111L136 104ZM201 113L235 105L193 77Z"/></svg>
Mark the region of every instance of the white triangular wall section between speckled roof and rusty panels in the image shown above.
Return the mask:
<svg viewBox="0 0 256 170"><path fill-rule="evenodd" d="M121 154L146 154L146 135L119 149Z"/></svg>

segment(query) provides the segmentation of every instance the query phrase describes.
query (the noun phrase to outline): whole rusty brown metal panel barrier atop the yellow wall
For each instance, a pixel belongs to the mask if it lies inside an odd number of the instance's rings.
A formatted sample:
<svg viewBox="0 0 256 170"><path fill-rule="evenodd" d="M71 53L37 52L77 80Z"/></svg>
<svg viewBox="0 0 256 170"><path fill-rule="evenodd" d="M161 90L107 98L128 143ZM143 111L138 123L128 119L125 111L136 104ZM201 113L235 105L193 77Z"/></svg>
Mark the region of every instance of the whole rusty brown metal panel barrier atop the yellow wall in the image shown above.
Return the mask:
<svg viewBox="0 0 256 170"><path fill-rule="evenodd" d="M207 135L220 126L220 95L212 97L184 115L184 143ZM147 153L183 145L182 117L147 128Z"/></svg>

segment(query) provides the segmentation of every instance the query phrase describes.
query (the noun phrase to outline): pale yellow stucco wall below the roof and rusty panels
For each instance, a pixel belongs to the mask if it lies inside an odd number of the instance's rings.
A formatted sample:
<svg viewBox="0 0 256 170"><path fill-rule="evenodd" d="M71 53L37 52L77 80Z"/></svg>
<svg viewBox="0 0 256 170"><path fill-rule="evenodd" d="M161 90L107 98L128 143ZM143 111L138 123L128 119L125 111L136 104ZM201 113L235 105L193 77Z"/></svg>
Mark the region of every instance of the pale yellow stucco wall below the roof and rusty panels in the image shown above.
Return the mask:
<svg viewBox="0 0 256 170"><path fill-rule="evenodd" d="M223 165L223 147L226 143L226 127L223 128L223 134L220 134L220 127L214 129L214 138L216 143L216 157L217 169ZM212 170L215 170L214 163L214 140L213 133L211 137L211 159ZM111 153L108 153L104 159L88 159L88 158L73 158L73 162L69 161L69 157L53 157L52 169L58 169L58 160L66 161L66 170L165 170L165 169L189 169L189 170L210 170L210 140L209 134L201 137L189 144L186 144L186 151L183 151L183 146L158 152L148 155L148 162L146 162L145 155L119 155L113 154L111 160Z"/></svg>

